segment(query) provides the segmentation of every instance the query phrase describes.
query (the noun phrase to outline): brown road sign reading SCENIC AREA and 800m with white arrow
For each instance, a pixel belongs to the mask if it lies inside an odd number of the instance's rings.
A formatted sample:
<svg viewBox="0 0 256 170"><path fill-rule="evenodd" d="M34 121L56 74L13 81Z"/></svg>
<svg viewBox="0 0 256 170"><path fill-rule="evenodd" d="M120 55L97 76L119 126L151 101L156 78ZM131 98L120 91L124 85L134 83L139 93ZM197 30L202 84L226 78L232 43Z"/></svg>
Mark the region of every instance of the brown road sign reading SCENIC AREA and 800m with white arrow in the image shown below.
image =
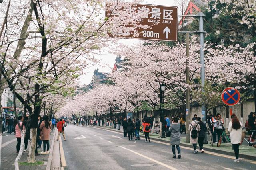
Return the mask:
<svg viewBox="0 0 256 170"><path fill-rule="evenodd" d="M136 4L132 7L136 9L146 7L149 9L148 16L141 18L138 21L138 25L148 25L150 28L137 28L136 30L139 33L138 37L134 37L133 33L130 33L129 36L119 38L177 41L178 7L148 4ZM106 16L109 17L110 20L112 17L118 15L116 12L110 14L111 11L107 10Z"/></svg>

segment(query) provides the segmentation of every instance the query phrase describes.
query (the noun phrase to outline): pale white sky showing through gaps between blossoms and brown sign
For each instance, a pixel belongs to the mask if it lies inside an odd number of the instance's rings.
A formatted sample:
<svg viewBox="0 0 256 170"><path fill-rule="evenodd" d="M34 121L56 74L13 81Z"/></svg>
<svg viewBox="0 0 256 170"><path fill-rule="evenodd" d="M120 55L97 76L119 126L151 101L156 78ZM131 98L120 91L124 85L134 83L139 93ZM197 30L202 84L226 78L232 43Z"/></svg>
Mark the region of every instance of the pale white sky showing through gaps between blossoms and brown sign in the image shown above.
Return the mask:
<svg viewBox="0 0 256 170"><path fill-rule="evenodd" d="M166 5L166 6L177 6L174 0L144 0L143 4L155 4L155 5ZM137 40L137 39L120 39L118 43L124 43L126 45L134 45L143 43L144 40ZM85 70L86 74L80 76L79 84L88 85L92 80L92 76L94 74L95 69L99 69L99 72L112 72L114 67L116 55L111 54L108 50L104 50L101 52L100 55L95 56L97 59L100 59L100 64L94 64L90 68Z"/></svg>

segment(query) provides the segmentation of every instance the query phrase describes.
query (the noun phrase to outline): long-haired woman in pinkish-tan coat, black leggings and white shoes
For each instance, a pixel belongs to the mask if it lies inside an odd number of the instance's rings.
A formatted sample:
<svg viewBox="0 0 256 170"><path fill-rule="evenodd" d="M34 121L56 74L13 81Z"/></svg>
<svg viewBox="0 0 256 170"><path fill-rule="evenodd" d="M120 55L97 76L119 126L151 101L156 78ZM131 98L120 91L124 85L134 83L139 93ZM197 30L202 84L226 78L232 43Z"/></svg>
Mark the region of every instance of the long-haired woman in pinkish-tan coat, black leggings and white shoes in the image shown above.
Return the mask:
<svg viewBox="0 0 256 170"><path fill-rule="evenodd" d="M51 131L51 124L49 122L49 117L45 115L40 125L40 135L43 141L43 152L41 152L41 154L49 154L50 131ZM47 150L46 150L46 145L47 145Z"/></svg>

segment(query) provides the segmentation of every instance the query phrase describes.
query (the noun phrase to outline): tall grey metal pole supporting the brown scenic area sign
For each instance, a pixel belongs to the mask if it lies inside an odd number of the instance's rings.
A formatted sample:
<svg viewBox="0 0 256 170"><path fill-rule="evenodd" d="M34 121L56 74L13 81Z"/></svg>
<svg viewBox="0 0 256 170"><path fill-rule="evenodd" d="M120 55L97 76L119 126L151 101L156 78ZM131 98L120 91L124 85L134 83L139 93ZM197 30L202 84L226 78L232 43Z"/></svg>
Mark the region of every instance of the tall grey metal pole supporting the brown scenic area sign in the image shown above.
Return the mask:
<svg viewBox="0 0 256 170"><path fill-rule="evenodd" d="M199 16L199 41L200 41L200 64L201 64L201 88L202 88L202 121L206 123L206 110L204 107L204 21L203 17L205 16L202 12L198 12ZM204 143L207 143L207 133L205 133Z"/></svg>

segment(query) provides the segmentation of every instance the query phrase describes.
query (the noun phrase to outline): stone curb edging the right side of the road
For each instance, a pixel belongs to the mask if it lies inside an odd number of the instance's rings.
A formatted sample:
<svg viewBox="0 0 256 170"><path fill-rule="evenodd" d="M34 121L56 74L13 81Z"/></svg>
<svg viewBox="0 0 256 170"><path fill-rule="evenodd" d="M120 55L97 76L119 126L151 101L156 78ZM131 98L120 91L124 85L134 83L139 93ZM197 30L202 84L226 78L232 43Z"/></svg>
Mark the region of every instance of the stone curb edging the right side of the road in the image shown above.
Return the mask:
<svg viewBox="0 0 256 170"><path fill-rule="evenodd" d="M107 129L107 130L110 130L110 131L115 131L117 133L123 133L122 131L116 131L114 129L110 129L110 128L106 128L106 127L96 127L96 126L94 126L94 127L99 128L99 129ZM142 137L144 138L144 135L142 135ZM152 138L152 140L160 141L160 142L164 142L164 143L170 143L170 141L165 141L165 140L157 139L157 138L154 138L154 139ZM186 143L180 143L180 146L193 148L192 145L189 145L189 144L186 144ZM199 147L198 147L198 149L199 149ZM254 149L254 148L252 148L252 149ZM234 156L234 152L228 152L228 151L224 151L224 150L216 150L216 149L207 148L207 151L215 152L215 153L218 153L218 154L226 154L226 155L229 155L229 156ZM244 158L244 159L248 159L248 160L256 160L256 156L250 156L250 155L240 154L240 153L239 153L239 158Z"/></svg>

